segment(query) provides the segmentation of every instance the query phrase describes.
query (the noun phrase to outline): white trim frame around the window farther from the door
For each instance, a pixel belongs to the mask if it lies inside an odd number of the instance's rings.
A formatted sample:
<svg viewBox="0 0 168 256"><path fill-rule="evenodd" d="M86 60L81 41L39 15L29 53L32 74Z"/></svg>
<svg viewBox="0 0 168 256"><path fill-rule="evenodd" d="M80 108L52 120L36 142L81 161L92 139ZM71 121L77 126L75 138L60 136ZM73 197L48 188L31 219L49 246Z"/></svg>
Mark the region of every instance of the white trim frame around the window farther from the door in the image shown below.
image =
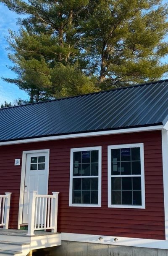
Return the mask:
<svg viewBox="0 0 168 256"><path fill-rule="evenodd" d="M118 148L131 148L140 147L140 157L141 157L141 191L142 191L142 205L121 205L121 204L111 204L111 149ZM118 175L113 175L113 177L119 177ZM131 177L137 177L137 175L131 175ZM130 177L130 175L123 175L122 177ZM109 208L135 208L135 209L145 209L145 185L144 185L144 144L121 144L108 146L108 207Z"/></svg>

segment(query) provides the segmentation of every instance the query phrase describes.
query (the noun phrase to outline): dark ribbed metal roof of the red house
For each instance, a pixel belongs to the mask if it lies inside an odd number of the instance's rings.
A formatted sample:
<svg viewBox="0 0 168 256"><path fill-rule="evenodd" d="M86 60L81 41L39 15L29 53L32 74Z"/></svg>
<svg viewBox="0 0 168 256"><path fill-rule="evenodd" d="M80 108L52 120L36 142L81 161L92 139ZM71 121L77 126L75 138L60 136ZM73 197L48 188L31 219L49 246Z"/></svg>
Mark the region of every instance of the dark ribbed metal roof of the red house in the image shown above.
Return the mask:
<svg viewBox="0 0 168 256"><path fill-rule="evenodd" d="M0 142L164 125L168 80L0 109Z"/></svg>

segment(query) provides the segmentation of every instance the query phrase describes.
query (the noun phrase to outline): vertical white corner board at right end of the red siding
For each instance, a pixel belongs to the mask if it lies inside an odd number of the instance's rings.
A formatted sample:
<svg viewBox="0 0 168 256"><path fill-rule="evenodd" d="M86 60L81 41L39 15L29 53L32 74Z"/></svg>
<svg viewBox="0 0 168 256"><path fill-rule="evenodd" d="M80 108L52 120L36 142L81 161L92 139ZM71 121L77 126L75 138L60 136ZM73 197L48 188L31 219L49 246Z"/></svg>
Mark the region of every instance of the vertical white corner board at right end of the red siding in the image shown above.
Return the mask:
<svg viewBox="0 0 168 256"><path fill-rule="evenodd" d="M165 239L168 240L168 131L162 130L163 189L165 208Z"/></svg>

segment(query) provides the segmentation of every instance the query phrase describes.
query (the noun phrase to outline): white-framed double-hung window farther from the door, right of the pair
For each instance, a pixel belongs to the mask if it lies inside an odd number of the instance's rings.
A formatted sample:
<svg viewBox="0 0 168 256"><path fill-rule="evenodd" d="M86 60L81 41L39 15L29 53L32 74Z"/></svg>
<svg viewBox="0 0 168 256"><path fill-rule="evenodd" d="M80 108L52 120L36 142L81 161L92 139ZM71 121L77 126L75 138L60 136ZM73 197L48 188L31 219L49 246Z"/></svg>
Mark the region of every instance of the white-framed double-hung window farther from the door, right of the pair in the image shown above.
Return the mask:
<svg viewBox="0 0 168 256"><path fill-rule="evenodd" d="M143 143L108 146L108 207L145 208Z"/></svg>

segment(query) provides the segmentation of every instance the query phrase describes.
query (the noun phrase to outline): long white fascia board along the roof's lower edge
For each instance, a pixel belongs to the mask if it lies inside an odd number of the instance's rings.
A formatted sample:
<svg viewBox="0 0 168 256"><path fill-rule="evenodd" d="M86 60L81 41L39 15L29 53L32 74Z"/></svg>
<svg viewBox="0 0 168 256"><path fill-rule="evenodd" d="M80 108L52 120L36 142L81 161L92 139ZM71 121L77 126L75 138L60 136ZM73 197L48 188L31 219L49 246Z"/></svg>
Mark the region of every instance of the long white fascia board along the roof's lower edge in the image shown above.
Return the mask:
<svg viewBox="0 0 168 256"><path fill-rule="evenodd" d="M95 132L88 132L88 133L75 133L75 134L68 134L68 135L47 136L47 137L34 138L34 139L20 139L20 140L13 140L13 141L9 141L9 142L0 142L0 146L13 145L13 144L23 144L23 143L30 143L30 142L44 142L44 141L52 141L52 140L58 140L58 139L74 139L74 138L82 138L82 137L112 135L112 134L119 134L119 133L134 133L134 132L141 132L141 131L158 131L158 130L161 130L161 129L163 129L163 125L146 126L146 127L138 127L138 128L128 128L128 129L119 129L119 130L110 130L110 131L95 131Z"/></svg>

